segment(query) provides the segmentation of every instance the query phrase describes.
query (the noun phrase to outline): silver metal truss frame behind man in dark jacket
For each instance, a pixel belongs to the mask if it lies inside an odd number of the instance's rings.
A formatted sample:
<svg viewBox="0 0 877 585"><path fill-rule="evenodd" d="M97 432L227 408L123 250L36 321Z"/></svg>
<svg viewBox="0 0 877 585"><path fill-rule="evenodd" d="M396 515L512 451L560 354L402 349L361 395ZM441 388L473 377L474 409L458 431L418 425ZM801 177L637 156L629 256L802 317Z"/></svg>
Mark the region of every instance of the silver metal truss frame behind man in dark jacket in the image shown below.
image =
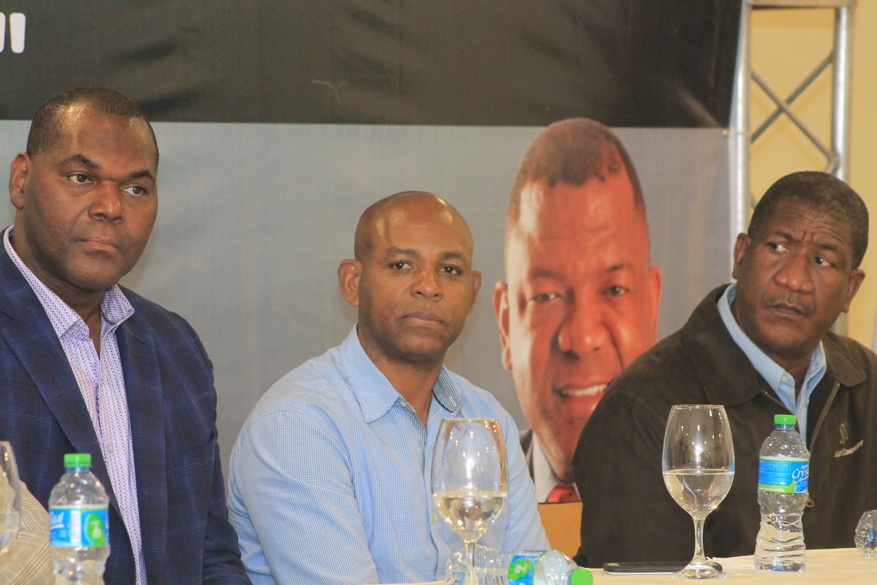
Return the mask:
<svg viewBox="0 0 877 585"><path fill-rule="evenodd" d="M737 52L737 70L734 78L734 95L731 102L731 127L729 128L731 168L731 242L749 223L753 199L750 189L749 149L753 141L782 115L788 116L795 126L824 156L825 172L846 181L850 170L850 108L852 105L852 13L858 0L743 0L740 18L740 36ZM802 83L783 99L754 71L751 61L752 10L788 8L833 8L834 46L831 53L814 69ZM807 89L829 65L832 67L831 84L831 145L826 146L810 132L791 105L803 90ZM749 91L752 79L764 90L776 105L774 112L752 134L749 132ZM845 333L845 314L835 323L834 330Z"/></svg>

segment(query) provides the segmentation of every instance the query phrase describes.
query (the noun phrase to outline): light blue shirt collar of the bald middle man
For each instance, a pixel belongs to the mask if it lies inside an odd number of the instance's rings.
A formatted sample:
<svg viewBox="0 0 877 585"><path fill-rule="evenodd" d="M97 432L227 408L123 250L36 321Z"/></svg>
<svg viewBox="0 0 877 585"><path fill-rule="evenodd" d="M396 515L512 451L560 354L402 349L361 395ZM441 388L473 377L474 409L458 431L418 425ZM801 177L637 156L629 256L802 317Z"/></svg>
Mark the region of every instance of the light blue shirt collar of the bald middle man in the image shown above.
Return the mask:
<svg viewBox="0 0 877 585"><path fill-rule="evenodd" d="M389 383L378 366L368 358L355 326L344 343L341 343L341 356L353 395L360 403L366 422L372 423L386 415L399 401L401 395ZM432 385L432 397L450 413L459 414L463 408L463 395L460 388L454 383L453 376L444 365L439 372L439 378Z"/></svg>

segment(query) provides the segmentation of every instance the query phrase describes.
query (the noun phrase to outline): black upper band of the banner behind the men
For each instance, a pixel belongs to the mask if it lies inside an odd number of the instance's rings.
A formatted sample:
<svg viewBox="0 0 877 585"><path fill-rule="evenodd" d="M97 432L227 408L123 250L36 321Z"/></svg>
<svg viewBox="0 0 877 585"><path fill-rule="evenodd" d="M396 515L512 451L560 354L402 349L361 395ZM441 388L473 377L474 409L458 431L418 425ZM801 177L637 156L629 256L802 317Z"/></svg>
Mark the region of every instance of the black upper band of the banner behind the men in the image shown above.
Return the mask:
<svg viewBox="0 0 877 585"><path fill-rule="evenodd" d="M740 0L0 0L0 119L111 85L155 121L728 125Z"/></svg>

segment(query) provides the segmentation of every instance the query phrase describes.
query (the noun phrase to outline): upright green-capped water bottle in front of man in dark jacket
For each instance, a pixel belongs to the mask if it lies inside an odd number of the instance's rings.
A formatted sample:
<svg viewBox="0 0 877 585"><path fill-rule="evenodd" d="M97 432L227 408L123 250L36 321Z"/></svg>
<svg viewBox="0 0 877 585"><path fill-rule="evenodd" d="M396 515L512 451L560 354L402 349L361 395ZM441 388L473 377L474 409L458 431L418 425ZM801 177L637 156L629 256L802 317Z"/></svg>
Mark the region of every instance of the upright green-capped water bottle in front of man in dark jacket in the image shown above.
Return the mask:
<svg viewBox="0 0 877 585"><path fill-rule="evenodd" d="M795 430L794 415L774 416L774 432L759 451L761 527L755 540L755 568L804 570L801 515L807 504L810 454Z"/></svg>

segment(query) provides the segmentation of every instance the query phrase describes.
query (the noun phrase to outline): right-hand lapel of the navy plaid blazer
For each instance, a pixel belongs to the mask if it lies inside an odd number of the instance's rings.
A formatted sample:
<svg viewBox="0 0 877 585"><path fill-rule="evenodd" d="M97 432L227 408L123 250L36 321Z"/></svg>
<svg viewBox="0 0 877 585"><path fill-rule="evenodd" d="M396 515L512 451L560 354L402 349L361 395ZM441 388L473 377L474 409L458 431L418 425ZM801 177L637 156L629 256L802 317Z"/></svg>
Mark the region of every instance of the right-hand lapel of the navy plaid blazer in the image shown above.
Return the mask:
<svg viewBox="0 0 877 585"><path fill-rule="evenodd" d="M165 574L168 541L168 459L161 377L151 334L151 329L140 320L136 309L116 330L131 420L140 537L147 581L160 582Z"/></svg>

